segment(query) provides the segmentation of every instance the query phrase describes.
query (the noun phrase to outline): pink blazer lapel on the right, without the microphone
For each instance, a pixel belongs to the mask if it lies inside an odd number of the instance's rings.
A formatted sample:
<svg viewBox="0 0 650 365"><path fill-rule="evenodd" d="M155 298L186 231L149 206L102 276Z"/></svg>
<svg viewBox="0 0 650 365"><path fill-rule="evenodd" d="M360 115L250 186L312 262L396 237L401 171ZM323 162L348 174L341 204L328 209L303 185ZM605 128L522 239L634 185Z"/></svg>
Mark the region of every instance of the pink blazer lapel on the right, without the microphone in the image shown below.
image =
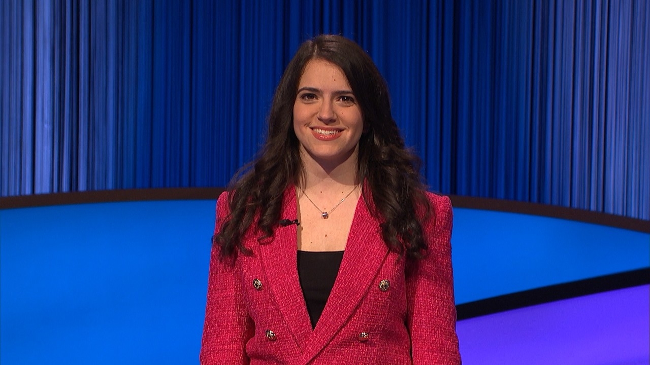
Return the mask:
<svg viewBox="0 0 650 365"><path fill-rule="evenodd" d="M341 268L309 343L303 349L302 364L318 355L348 321L387 254L379 223L370 214L363 197L359 197Z"/></svg>

